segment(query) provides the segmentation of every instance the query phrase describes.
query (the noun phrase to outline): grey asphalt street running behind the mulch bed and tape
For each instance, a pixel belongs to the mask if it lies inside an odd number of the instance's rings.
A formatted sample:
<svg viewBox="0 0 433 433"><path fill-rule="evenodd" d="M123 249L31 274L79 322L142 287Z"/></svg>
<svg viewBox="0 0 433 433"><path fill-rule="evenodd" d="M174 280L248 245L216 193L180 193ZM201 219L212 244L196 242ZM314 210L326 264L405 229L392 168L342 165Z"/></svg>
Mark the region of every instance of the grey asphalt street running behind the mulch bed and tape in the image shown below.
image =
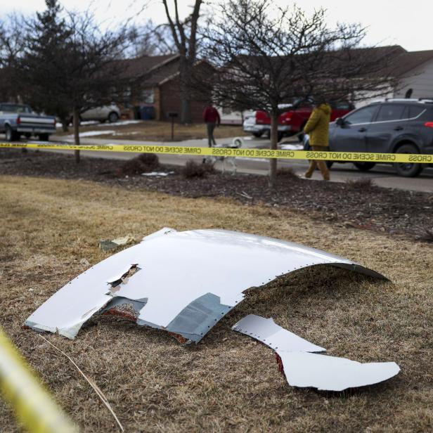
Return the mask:
<svg viewBox="0 0 433 433"><path fill-rule="evenodd" d="M51 137L51 142L56 143L62 141L62 137ZM63 138L64 142L64 138ZM218 144L231 143L230 138L220 138L216 140ZM35 142L36 143L36 142ZM82 144L94 144L94 145L108 145L108 144L143 144L140 141L134 140L108 140L103 138L82 138ZM150 142L146 141L148 145L162 145L162 146L207 146L207 139L188 140L179 142ZM299 145L298 141L289 141L289 146ZM263 138L254 137L243 137L243 147L245 148L269 148L269 140ZM52 151L52 150L47 150ZM70 150L56 150L60 153L71 153ZM101 152L101 151L86 151L82 153L86 157L102 157L108 159L127 160L134 157L135 153L117 153L117 152ZM179 156L179 155L158 155L162 164L172 165L183 165L187 160L202 160L202 157L190 157L190 156ZM238 166L238 172L266 175L268 174L269 160L257 159L257 158L236 158L236 164ZM291 167L297 174L303 174L306 171L308 162L305 160L278 160L278 167ZM217 161L215 165L216 169L221 169L222 162ZM226 162L226 172L231 172L232 165ZM313 179L321 179L320 172L316 171L313 175ZM377 186L384 188L396 188L401 190L413 190L422 191L427 193L433 193L433 168L426 168L423 170L420 176L416 178L404 178L396 176L392 165L389 164L377 164L369 172L360 172L354 164L351 163L335 163L331 169L331 181L333 182L346 182L355 179L373 179Z"/></svg>

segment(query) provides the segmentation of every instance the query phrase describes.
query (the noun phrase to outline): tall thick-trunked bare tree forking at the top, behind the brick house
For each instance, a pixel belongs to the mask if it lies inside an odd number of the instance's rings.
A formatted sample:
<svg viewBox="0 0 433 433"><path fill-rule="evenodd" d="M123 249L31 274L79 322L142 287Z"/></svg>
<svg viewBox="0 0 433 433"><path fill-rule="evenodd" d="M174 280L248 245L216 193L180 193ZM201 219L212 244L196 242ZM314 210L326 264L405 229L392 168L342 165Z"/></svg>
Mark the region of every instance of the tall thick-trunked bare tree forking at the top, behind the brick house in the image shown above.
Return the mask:
<svg viewBox="0 0 433 433"><path fill-rule="evenodd" d="M192 89L191 75L197 57L198 19L202 0L195 0L193 12L186 18L179 18L178 1L173 0L174 16L169 11L169 2L162 0L165 13L172 31L176 50L179 53L179 79L181 84L181 123L191 122L190 91Z"/></svg>

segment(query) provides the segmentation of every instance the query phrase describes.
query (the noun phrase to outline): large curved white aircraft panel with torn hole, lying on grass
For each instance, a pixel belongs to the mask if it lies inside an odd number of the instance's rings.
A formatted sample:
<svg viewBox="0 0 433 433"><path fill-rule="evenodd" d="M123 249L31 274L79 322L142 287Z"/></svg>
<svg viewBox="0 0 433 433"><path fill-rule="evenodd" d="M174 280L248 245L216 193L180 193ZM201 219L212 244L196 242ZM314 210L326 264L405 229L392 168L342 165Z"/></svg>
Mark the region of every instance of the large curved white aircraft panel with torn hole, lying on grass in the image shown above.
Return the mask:
<svg viewBox="0 0 433 433"><path fill-rule="evenodd" d="M25 325L74 338L94 314L129 303L139 325L199 342L245 290L318 264L386 279L354 261L284 240L163 228L71 280Z"/></svg>

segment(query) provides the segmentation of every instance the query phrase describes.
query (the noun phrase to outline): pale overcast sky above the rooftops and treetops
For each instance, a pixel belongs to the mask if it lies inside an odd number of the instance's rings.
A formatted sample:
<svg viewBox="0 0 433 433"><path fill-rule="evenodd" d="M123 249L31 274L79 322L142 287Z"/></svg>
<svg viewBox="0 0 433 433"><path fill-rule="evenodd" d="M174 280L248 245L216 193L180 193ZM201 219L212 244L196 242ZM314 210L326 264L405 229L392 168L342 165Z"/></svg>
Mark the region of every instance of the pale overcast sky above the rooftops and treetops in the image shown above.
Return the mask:
<svg viewBox="0 0 433 433"><path fill-rule="evenodd" d="M170 0L171 1L171 0ZM208 8L218 0L207 0ZM100 22L119 22L133 18L136 23L148 18L158 24L165 22L164 8L160 0L60 0L67 9L84 11L90 6ZM179 0L182 17L191 11L193 1ZM273 4L286 6L287 0L273 0ZM143 6L148 6L143 9ZM408 51L433 49L433 1L431 0L302 0L298 1L306 12L323 7L330 25L335 22L356 22L368 27L363 44L403 46ZM143 10L142 10L143 9ZM44 0L0 0L0 20L17 11L33 14L44 10ZM138 14L139 13L139 14ZM138 15L137 15L138 14Z"/></svg>

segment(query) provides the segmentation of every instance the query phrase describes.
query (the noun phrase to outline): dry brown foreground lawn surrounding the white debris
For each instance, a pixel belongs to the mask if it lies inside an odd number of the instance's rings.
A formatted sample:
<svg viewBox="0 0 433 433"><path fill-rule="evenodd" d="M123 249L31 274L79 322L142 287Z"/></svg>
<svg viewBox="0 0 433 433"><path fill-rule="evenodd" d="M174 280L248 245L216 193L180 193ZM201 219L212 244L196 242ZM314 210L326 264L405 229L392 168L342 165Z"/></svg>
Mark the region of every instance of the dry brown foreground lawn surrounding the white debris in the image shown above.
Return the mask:
<svg viewBox="0 0 433 433"><path fill-rule="evenodd" d="M293 240L360 261L393 282L337 269L292 273L250 290L195 347L113 316L93 319L74 341L46 335L95 380L127 432L432 431L431 245L228 200L84 181L1 176L0 182L0 324L84 432L117 427L77 370L21 324L84 271L81 259L95 264L105 257L98 240L125 233L139 238L162 226ZM272 316L330 355L396 361L401 373L345 397L289 387L271 349L230 329L251 313ZM17 431L1 402L0 430Z"/></svg>

